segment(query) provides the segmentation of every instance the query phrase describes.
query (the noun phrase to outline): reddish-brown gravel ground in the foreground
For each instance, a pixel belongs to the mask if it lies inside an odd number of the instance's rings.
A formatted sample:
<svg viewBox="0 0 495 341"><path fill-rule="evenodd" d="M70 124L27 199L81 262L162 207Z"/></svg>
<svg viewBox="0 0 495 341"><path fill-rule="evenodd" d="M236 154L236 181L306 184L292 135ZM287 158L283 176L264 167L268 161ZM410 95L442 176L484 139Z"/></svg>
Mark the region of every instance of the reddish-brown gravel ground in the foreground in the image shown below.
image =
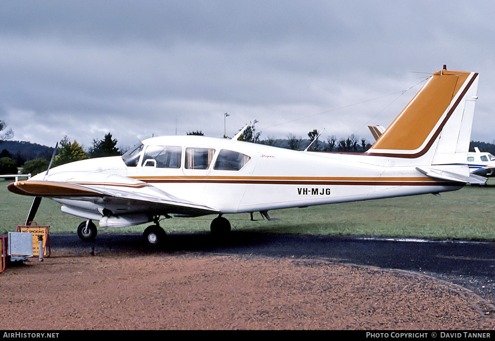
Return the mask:
<svg viewBox="0 0 495 341"><path fill-rule="evenodd" d="M52 249L8 267L0 287L8 330L495 327L493 306L463 288L318 259Z"/></svg>

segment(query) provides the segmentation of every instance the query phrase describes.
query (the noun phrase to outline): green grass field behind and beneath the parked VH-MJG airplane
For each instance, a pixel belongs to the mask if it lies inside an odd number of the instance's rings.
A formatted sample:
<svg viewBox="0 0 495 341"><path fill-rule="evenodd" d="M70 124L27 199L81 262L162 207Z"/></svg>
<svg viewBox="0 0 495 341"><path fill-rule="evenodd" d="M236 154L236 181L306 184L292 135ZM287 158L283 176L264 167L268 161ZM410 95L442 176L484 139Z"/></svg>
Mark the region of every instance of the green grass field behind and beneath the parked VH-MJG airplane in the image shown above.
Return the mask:
<svg viewBox="0 0 495 341"><path fill-rule="evenodd" d="M0 181L0 234L24 224L32 202L32 197L8 192L8 183ZM250 221L248 213L225 217L235 231L493 241L494 199L495 179L490 179L486 187L466 186L441 197L415 195L269 212L280 221L262 220L259 213L254 214L256 221ZM207 232L213 218L173 218L160 225L167 232ZM62 213L60 205L49 199L42 200L35 218L38 225L49 225L51 233L76 232L83 220ZM99 231L142 232L148 225Z"/></svg>

